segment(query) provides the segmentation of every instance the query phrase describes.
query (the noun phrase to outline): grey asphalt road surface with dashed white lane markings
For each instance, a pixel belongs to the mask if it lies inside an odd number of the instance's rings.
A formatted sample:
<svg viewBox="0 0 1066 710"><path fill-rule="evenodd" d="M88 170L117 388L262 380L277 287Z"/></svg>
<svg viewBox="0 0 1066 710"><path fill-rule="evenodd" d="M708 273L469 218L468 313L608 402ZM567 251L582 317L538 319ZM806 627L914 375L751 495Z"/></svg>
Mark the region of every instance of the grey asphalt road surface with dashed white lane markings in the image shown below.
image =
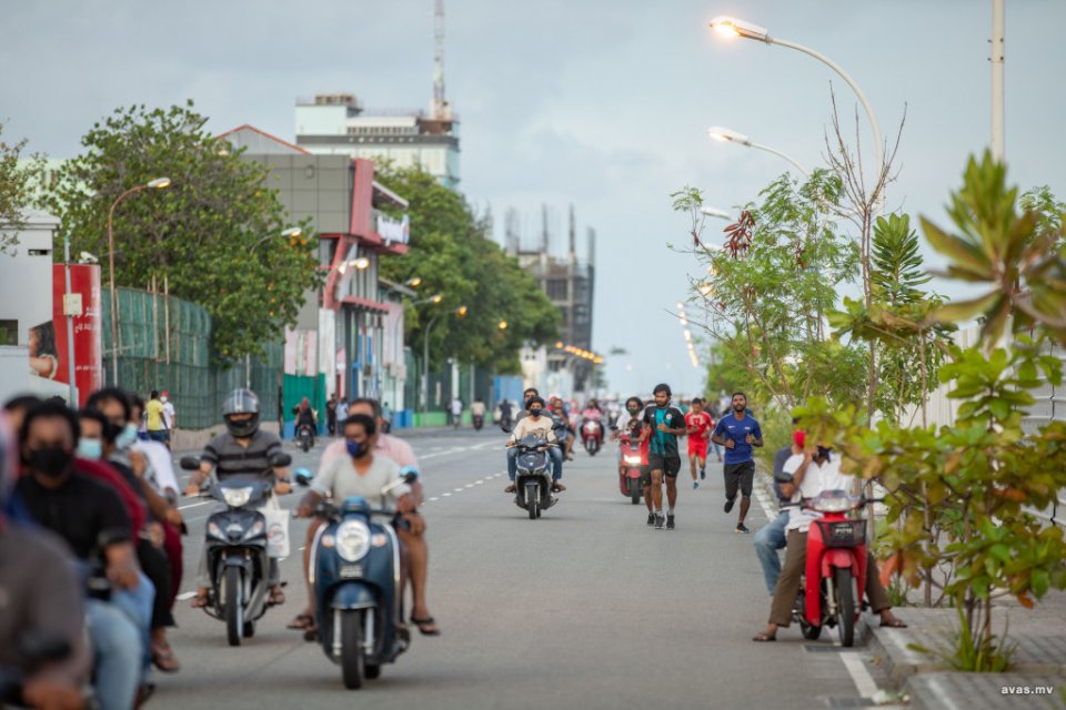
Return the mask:
<svg viewBox="0 0 1066 710"><path fill-rule="evenodd" d="M672 532L646 527L643 506L617 493L613 453L567 464L570 490L531 521L502 493L499 432L410 440L423 462L430 604L444 636L416 637L380 680L345 691L321 647L284 628L304 601L296 542L282 564L289 601L244 646L228 647L221 622L179 602L183 669L157 673L153 708L784 709L859 707L875 690L862 649L807 643L795 628L776 643L751 641L768 598L751 536L722 511L717 466L698 491L683 473ZM294 465L315 453L294 452ZM183 510L185 590L209 508ZM766 518L753 508L756 528ZM304 526L293 524L294 540Z"/></svg>

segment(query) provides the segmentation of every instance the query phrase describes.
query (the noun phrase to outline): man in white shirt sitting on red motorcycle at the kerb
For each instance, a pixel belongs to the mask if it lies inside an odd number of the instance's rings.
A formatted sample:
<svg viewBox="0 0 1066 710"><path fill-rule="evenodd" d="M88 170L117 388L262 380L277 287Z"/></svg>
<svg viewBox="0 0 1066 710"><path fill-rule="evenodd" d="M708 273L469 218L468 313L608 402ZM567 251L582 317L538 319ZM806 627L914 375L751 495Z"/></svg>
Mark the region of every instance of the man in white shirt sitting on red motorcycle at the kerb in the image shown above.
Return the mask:
<svg viewBox="0 0 1066 710"><path fill-rule="evenodd" d="M783 495L791 496L793 503L802 504L816 498L824 490L849 490L856 487L858 480L854 476L841 473L841 459L828 448L818 446L816 450L809 448L802 455L792 456L784 466L785 474L793 475L791 484L782 483ZM785 564L777 578L774 589L774 600L770 608L770 620L766 629L758 633L754 641L776 641L777 629L788 628L792 622L792 609L800 594L800 577L803 575L807 559L807 530L813 520L822 517L821 513L807 508L793 508L790 514L787 530L787 547ZM877 564L867 547L866 566L866 598L874 613L881 616L881 626L904 628L906 625L892 613L892 602L885 588L882 587L877 575Z"/></svg>

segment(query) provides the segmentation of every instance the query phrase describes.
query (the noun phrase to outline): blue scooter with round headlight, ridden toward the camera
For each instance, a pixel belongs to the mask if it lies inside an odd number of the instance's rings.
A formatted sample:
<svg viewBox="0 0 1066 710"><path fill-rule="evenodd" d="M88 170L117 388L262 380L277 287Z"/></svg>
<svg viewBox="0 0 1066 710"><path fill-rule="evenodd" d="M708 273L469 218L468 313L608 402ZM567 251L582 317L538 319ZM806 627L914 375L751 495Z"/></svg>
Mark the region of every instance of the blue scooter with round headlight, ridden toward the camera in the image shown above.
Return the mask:
<svg viewBox="0 0 1066 710"><path fill-rule="evenodd" d="M404 469L404 483L416 478L414 469ZM309 481L298 477L296 483ZM403 595L400 542L392 527L395 511L348 498L339 506L319 504L315 515L326 520L311 547L316 636L326 658L340 665L344 687L355 690L364 678L378 678L381 666L394 662L411 641L410 633L398 628Z"/></svg>

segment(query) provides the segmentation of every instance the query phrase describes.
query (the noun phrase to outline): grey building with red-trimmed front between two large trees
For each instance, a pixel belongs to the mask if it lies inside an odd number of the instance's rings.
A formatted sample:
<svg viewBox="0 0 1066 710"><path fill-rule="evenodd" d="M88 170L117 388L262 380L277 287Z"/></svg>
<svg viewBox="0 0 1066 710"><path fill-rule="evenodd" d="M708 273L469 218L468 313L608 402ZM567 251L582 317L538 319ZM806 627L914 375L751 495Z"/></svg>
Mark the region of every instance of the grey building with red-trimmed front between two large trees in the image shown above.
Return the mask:
<svg viewBox="0 0 1066 710"><path fill-rule="evenodd" d="M382 213L406 201L374 181L374 164L344 154L315 155L243 125L220 138L270 169L268 185L292 220L311 220L325 285L310 292L286 333L285 372L325 375L326 394L392 395L403 408L403 306L381 297L378 258L408 251L408 221ZM290 372L291 371L291 372Z"/></svg>

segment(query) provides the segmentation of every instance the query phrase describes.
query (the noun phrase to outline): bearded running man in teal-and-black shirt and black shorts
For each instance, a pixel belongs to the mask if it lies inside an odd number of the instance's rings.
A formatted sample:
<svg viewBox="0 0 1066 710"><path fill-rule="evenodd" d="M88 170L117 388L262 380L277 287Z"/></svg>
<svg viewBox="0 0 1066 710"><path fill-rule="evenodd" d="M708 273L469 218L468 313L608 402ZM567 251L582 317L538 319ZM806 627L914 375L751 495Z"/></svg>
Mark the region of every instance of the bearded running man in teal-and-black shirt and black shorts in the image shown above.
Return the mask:
<svg viewBox="0 0 1066 710"><path fill-rule="evenodd" d="M670 385L656 385L655 404L644 410L642 442L651 439L647 465L652 469L652 516L655 529L674 529L674 507L677 505L677 473L681 454L677 437L685 434L685 415L670 406ZM666 515L663 516L663 477L666 478Z"/></svg>

